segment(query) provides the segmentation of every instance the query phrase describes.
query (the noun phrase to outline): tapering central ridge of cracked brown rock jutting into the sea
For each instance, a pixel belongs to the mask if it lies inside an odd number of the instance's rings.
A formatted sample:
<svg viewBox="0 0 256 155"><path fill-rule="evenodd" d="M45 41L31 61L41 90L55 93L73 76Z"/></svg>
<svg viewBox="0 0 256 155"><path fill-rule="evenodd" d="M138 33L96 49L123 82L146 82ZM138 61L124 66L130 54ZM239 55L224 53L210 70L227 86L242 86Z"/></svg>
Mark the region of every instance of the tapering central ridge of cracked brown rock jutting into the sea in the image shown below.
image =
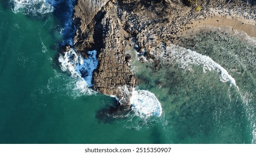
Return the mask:
<svg viewBox="0 0 256 155"><path fill-rule="evenodd" d="M135 77L131 74L125 59L124 29L117 17L117 8L111 1L103 8L105 16L101 19L100 27L103 28L103 48L98 55L99 68L94 72L93 88L103 94L116 95L122 104L129 103L129 95L120 89L127 87L132 91Z"/></svg>

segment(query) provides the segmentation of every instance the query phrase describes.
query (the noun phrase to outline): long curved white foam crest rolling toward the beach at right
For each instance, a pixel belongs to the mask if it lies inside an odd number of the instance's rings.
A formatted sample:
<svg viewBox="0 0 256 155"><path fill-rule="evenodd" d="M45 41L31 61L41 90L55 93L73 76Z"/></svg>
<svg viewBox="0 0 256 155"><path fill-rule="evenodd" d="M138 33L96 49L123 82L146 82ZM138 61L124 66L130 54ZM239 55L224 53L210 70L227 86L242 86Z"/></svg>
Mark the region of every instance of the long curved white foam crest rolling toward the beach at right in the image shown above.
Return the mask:
<svg viewBox="0 0 256 155"><path fill-rule="evenodd" d="M182 48L177 45L167 46L168 58L164 58L171 63L178 63L180 68L189 70L192 65L202 65L203 71L217 71L219 74L219 79L222 82L229 82L231 86L237 87L234 78L228 74L228 71L224 69L221 65L213 61L209 56L202 55L196 51L190 49ZM237 87L238 89L238 87Z"/></svg>

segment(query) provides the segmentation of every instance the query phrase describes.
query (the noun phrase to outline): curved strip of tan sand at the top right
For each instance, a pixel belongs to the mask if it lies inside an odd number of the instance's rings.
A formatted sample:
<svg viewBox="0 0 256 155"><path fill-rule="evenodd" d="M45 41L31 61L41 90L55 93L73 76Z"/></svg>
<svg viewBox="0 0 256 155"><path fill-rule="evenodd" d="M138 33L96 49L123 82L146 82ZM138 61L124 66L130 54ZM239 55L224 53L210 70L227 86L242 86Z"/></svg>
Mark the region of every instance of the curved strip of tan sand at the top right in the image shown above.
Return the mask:
<svg viewBox="0 0 256 155"><path fill-rule="evenodd" d="M209 25L214 27L229 26L232 29L243 31L244 33L249 35L249 37L256 38L256 25L253 24L253 22L254 20L234 19L234 18L221 17L221 16L210 16L204 20L194 20L191 24L187 25L187 27L190 27L187 30L191 30L201 25ZM184 33L187 30L181 33Z"/></svg>

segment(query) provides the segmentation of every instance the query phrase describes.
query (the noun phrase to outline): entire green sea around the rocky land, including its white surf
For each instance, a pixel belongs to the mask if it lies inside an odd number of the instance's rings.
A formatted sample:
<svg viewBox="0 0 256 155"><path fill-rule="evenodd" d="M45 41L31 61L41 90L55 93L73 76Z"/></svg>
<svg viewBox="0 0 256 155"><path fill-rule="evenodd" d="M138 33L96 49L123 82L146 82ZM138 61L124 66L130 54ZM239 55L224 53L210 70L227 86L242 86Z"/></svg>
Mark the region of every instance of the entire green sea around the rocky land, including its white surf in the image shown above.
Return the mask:
<svg viewBox="0 0 256 155"><path fill-rule="evenodd" d="M59 54L74 3L0 1L0 143L256 143L255 38L198 27L166 47L160 69L130 49L134 106L106 115L115 97L79 73L92 73L97 51Z"/></svg>

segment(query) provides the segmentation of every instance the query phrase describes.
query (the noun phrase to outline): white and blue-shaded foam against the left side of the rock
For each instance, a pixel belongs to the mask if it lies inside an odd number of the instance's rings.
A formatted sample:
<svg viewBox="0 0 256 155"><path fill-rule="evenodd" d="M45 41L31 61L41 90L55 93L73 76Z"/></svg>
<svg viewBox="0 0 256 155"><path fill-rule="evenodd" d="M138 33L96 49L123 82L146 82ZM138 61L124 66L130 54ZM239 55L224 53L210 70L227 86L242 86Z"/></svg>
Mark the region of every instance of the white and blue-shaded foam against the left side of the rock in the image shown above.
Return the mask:
<svg viewBox="0 0 256 155"><path fill-rule="evenodd" d="M94 91L89 87L93 86L91 80L93 71L98 65L98 60L96 59L96 50L89 51L88 55L88 59L85 59L74 49L70 49L64 55L59 56L59 62L61 69L68 71L71 77L75 79L74 91L79 90L82 94L91 95L94 94Z"/></svg>

